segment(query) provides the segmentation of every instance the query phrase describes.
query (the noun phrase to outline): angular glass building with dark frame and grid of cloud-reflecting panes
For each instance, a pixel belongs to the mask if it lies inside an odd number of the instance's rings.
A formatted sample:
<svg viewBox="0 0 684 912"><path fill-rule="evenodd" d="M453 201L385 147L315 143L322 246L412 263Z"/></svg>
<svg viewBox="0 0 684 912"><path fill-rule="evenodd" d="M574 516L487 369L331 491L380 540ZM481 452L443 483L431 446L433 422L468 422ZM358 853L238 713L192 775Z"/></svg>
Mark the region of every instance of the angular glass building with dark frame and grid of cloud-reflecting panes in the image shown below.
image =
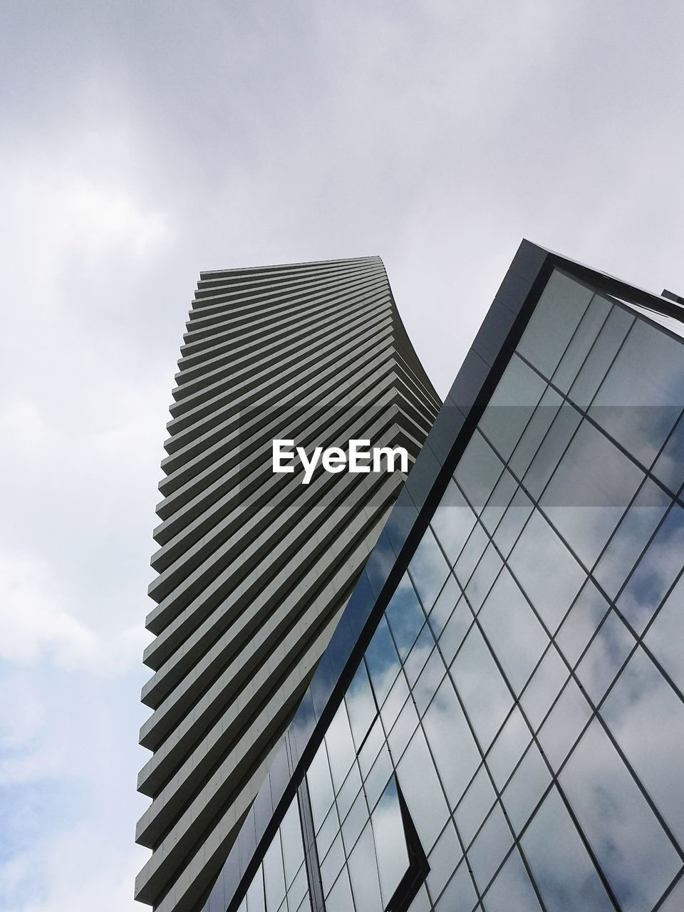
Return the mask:
<svg viewBox="0 0 684 912"><path fill-rule="evenodd" d="M205 912L684 908L682 315L523 242Z"/></svg>

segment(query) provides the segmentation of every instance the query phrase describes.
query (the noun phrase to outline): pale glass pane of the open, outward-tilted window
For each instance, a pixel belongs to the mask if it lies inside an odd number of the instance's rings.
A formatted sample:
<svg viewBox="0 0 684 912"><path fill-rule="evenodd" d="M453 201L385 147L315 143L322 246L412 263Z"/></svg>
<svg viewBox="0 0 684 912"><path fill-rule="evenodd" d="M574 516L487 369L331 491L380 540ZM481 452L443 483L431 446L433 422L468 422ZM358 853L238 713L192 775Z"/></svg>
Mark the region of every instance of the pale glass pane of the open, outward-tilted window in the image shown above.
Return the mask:
<svg viewBox="0 0 684 912"><path fill-rule="evenodd" d="M418 831L420 845L430 853L449 814L430 751L422 731L416 731L397 769L401 793Z"/></svg>

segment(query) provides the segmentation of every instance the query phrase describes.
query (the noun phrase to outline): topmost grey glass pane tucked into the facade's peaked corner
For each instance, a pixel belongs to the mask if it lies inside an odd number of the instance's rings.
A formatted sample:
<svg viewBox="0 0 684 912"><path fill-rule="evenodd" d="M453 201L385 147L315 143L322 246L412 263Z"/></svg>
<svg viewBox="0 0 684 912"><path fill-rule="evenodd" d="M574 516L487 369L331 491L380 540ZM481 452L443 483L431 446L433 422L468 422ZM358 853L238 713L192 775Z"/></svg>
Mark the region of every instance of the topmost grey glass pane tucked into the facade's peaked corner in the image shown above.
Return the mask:
<svg viewBox="0 0 684 912"><path fill-rule="evenodd" d="M593 292L554 270L517 350L551 377L586 311Z"/></svg>

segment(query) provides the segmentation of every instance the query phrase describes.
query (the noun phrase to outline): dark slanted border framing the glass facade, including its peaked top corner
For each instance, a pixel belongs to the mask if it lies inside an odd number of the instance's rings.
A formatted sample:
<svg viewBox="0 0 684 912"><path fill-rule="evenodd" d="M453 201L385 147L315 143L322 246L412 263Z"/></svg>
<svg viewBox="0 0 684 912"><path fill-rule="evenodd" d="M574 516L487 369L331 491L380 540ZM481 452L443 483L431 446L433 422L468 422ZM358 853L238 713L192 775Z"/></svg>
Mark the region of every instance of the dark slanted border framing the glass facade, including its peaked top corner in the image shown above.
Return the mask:
<svg viewBox="0 0 684 912"><path fill-rule="evenodd" d="M380 617L428 527L493 389L503 375L554 268L637 303L667 305L650 295L523 240L494 296L449 395L409 472L388 522L285 733L252 809L202 912L236 912L299 782L323 741ZM646 301L648 300L648 304ZM663 311L665 312L665 311Z"/></svg>

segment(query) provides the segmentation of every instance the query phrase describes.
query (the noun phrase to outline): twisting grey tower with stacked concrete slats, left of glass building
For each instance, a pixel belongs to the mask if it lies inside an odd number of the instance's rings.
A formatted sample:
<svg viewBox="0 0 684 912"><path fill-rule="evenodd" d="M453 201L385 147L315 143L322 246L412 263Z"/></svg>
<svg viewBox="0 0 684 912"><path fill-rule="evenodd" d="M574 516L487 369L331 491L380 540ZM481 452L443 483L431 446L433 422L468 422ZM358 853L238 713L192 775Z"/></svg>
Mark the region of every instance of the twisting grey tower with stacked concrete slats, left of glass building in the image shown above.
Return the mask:
<svg viewBox="0 0 684 912"><path fill-rule="evenodd" d="M196 912L394 503L399 473L275 475L275 437L402 445L440 400L378 257L202 273L173 390L140 742L136 898Z"/></svg>

